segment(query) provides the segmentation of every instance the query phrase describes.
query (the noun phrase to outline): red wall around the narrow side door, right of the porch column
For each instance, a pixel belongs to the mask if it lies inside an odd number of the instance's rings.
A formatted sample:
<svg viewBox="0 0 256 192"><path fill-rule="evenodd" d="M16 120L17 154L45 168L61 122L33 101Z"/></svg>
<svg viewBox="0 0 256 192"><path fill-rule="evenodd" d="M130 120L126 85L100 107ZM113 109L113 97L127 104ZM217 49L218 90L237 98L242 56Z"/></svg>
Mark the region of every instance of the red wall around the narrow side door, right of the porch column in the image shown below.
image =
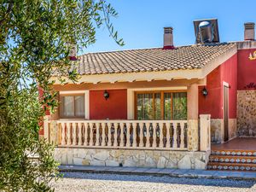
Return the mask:
<svg viewBox="0 0 256 192"><path fill-rule="evenodd" d="M230 119L236 118L237 54L207 75L207 96L202 96L204 86L199 86L200 114L210 113L212 119L223 118L223 81L230 84Z"/></svg>

